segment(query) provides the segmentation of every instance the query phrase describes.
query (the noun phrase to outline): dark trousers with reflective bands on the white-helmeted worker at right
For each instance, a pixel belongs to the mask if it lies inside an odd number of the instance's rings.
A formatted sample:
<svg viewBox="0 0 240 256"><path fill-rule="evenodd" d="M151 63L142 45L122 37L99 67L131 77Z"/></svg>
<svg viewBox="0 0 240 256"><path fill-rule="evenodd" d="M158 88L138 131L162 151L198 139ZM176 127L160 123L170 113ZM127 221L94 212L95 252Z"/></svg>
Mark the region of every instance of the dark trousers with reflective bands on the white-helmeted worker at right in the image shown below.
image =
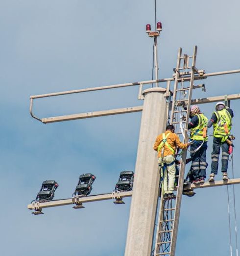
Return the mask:
<svg viewBox="0 0 240 256"><path fill-rule="evenodd" d="M221 138L214 137L212 165L211 165L211 169L212 169L211 173L214 173L214 174L217 174L220 148L222 148L222 173L225 173L227 172L227 167L228 167L229 145L227 144L226 141L222 143Z"/></svg>

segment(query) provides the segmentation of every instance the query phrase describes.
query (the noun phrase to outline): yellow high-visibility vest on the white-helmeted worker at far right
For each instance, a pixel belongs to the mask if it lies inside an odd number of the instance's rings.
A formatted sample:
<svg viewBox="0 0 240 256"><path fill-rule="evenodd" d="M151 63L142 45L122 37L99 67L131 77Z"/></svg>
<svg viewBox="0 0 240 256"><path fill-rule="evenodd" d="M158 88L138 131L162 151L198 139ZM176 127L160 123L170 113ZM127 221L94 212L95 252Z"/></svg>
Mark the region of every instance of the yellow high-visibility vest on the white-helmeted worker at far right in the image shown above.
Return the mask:
<svg viewBox="0 0 240 256"><path fill-rule="evenodd" d="M214 112L216 123L214 123L214 137L222 138L221 142L226 141L232 128L232 117L226 109Z"/></svg>

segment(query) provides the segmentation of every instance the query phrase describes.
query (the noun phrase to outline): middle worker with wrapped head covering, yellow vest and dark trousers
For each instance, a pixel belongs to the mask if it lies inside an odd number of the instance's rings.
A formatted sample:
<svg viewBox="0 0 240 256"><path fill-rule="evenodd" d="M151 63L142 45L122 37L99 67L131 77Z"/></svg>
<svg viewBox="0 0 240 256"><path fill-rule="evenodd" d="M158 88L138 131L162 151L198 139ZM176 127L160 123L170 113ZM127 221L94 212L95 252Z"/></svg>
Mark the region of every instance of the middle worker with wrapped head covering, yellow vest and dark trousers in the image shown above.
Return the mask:
<svg viewBox="0 0 240 256"><path fill-rule="evenodd" d="M191 122L188 125L188 129L191 131L190 140L193 142L190 148L192 158L192 183L199 184L204 183L206 168L208 166L206 162L208 119L201 113L197 105L191 106L190 118Z"/></svg>

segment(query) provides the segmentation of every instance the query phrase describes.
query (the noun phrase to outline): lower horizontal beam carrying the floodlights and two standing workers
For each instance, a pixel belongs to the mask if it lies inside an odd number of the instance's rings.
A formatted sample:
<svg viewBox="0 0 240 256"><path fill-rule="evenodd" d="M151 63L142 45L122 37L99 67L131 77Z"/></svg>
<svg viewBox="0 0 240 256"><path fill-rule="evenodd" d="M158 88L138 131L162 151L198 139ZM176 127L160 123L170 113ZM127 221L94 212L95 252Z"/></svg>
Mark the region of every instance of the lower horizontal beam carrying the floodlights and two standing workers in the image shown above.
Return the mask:
<svg viewBox="0 0 240 256"><path fill-rule="evenodd" d="M239 184L240 178L238 179L229 179L227 181L225 180L216 180L214 182L205 182L200 185L194 185L191 184L191 188L197 189L197 188L206 188L206 187L218 187L218 186L224 186L224 185L234 185ZM189 186L190 187L190 186ZM185 189L187 187L184 187ZM124 197L131 197L132 191L127 192L120 192L120 193L109 193L109 194L101 194L96 196L87 196L87 197L78 197L77 199L60 199L60 200L52 200L45 203L32 203L30 205L27 205L27 208L30 210L38 210L42 208L48 208L48 207L55 207L55 206L62 206L62 205L81 205L82 203L88 203L88 202L95 202L95 201L103 201L103 200L118 200Z"/></svg>

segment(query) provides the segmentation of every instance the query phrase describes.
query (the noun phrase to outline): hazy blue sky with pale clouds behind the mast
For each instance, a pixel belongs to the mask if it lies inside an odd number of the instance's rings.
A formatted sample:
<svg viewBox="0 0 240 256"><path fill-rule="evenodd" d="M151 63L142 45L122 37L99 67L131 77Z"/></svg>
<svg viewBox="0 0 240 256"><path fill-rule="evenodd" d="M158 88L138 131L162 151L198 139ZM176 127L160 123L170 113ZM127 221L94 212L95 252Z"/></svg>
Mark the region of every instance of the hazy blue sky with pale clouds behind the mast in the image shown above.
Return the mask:
<svg viewBox="0 0 240 256"><path fill-rule="evenodd" d="M160 78L172 76L179 47L192 53L194 45L197 68L239 69L239 8L238 0L157 0L157 20L163 23ZM97 177L92 194L111 192L120 171L134 170L141 113L43 125L29 115L29 96L150 79L147 23L154 27L154 1L0 1L0 255L124 254L130 199L125 205L89 203L81 210L49 208L41 216L26 205L46 179L59 183L56 199L71 197L78 176L87 172ZM209 77L207 92L196 91L193 98L240 93L239 79L240 74ZM131 87L42 99L35 113L140 105L137 95ZM232 102L236 177L239 106ZM201 107L210 117L214 104ZM211 147L210 140L208 155ZM235 189L238 195L240 186ZM229 255L226 187L196 192L183 198L176 255ZM236 207L239 216L238 200Z"/></svg>

